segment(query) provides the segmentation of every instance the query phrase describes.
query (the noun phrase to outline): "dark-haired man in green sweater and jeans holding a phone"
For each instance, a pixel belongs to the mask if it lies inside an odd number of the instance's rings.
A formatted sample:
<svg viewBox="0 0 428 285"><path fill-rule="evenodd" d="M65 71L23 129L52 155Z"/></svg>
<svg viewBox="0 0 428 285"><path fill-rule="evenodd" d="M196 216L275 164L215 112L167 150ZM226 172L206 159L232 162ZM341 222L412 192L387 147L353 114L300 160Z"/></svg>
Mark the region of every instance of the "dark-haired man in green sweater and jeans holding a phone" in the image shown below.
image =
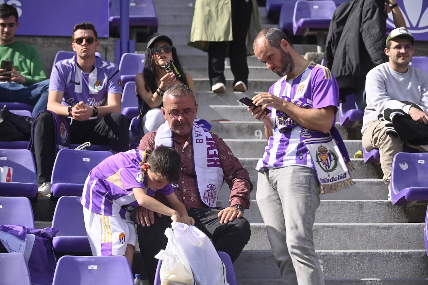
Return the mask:
<svg viewBox="0 0 428 285"><path fill-rule="evenodd" d="M0 5L0 102L35 105L33 117L46 109L49 79L33 46L15 40L19 26L18 11Z"/></svg>

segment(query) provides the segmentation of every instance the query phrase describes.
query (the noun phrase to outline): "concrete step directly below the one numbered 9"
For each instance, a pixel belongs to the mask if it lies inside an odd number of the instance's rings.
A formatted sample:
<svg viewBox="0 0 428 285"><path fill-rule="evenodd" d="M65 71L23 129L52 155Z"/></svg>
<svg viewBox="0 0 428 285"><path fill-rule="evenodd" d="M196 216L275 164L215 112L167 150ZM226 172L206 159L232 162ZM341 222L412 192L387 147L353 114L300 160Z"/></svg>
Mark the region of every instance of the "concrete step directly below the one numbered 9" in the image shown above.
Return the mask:
<svg viewBox="0 0 428 285"><path fill-rule="evenodd" d="M260 134L261 133L261 134ZM264 133L254 132L259 137L264 137ZM265 147L268 145L268 141L265 138L262 139L225 139L223 141L232 150L235 157L262 157L265 153ZM354 154L358 150L361 150L360 140L343 140L346 149L349 154Z"/></svg>

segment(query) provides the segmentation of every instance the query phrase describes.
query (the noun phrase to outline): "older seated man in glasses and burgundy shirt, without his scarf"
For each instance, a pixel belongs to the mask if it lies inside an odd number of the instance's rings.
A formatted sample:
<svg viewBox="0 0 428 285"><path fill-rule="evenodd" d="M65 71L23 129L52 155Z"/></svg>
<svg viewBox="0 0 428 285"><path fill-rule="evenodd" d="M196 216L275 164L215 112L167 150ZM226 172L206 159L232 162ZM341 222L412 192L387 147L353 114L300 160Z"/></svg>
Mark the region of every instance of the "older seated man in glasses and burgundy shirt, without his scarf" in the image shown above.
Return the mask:
<svg viewBox="0 0 428 285"><path fill-rule="evenodd" d="M166 90L162 112L172 130L173 147L180 154L182 161L180 181L178 187L175 187L175 194L186 206L189 216L195 219L195 226L211 238L217 251L227 252L233 262L250 239L250 223L242 216L244 208L250 206L253 184L248 171L242 167L226 143L217 134L210 133L217 146L224 173L223 179L231 189L230 207L209 208L201 200L193 165L192 145L192 126L197 110L195 95L189 87L174 85ZM156 133L157 131L146 134L138 148L152 151L155 148ZM167 204L162 195L155 193L154 197ZM154 256L160 249L165 249L167 238L164 232L171 226L171 219L160 214L153 215L153 212L150 213L141 207L137 211L136 218L141 255L146 264L149 281L152 283L158 263Z"/></svg>

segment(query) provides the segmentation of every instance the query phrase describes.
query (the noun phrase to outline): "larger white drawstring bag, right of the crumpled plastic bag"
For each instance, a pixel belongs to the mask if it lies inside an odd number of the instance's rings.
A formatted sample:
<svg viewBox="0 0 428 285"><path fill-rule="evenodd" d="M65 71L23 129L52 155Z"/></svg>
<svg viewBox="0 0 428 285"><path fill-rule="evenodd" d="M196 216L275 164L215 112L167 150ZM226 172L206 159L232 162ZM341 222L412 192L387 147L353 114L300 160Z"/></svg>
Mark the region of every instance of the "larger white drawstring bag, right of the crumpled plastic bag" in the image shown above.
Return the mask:
<svg viewBox="0 0 428 285"><path fill-rule="evenodd" d="M229 285L226 267L211 240L195 226L172 223L175 241L187 258L198 285Z"/></svg>

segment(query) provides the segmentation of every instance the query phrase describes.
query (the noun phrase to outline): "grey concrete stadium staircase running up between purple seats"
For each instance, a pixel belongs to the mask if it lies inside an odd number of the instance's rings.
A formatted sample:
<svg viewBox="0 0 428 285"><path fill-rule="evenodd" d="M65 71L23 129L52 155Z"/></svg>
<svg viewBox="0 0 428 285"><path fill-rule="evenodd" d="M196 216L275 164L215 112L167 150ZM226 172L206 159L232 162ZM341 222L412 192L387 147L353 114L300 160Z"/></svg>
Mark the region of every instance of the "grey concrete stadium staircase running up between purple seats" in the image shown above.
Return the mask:
<svg viewBox="0 0 428 285"><path fill-rule="evenodd" d="M225 93L213 93L208 80L208 56L187 46L194 0L156 0L159 19L158 34L171 37L184 70L195 81L199 103L198 117L207 119L211 131L219 134L233 154L250 172L254 190L250 209L244 217L251 223L251 239L235 262L240 285L283 284L270 250L265 224L256 202L257 172L254 169L266 145L263 125L253 119L247 107L238 102L267 92L278 79L255 56L248 57L250 79L247 92L232 92L233 76L226 67ZM265 23L265 8L259 7ZM271 27L271 24L266 26ZM296 45L304 54L312 47ZM145 47L137 46L143 51ZM227 59L229 62L229 59ZM228 63L226 65L229 65ZM336 123L351 156L361 149L361 126L344 128ZM426 205L406 208L386 200L388 189L380 179L380 166L352 159L357 185L334 194L321 196L315 225L315 248L328 285L419 285L428 284L428 258L425 253L423 228ZM220 191L220 206L229 205L229 187ZM54 204L39 199L35 205L36 227L51 226ZM44 222L41 222L44 221ZM284 241L285 242L285 241ZM134 273L143 267L139 248L134 256ZM144 275L143 275L144 276Z"/></svg>

